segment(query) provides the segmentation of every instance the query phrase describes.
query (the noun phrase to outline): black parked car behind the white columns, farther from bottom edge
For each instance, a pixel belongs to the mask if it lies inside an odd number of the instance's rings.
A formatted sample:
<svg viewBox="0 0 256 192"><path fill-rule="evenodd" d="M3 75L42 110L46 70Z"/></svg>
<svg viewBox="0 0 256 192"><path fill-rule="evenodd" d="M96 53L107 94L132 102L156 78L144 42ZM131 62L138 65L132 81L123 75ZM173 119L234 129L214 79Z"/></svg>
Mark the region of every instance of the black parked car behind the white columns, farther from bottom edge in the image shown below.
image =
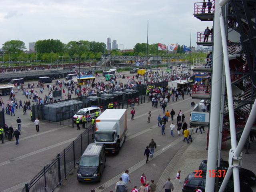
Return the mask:
<svg viewBox="0 0 256 192"><path fill-rule="evenodd" d="M220 160L220 169L227 171L228 170L228 161ZM201 162L201 164L199 165L198 170L202 170L203 173L206 173L206 171L207 171L207 160L203 160ZM217 170L217 168L216 168L216 170ZM249 184L249 185L252 186L256 182L256 175L248 169L240 168L239 169L239 176L240 176L240 182L242 182L244 184ZM230 178L233 179L233 175Z"/></svg>

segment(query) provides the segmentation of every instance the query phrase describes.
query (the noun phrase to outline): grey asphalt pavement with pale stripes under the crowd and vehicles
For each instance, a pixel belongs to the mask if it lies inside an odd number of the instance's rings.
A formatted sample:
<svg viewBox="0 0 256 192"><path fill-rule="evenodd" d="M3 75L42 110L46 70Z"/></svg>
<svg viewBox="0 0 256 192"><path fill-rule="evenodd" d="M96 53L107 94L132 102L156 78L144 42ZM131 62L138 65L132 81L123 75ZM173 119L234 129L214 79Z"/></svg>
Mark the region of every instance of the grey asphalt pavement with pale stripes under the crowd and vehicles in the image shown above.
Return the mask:
<svg viewBox="0 0 256 192"><path fill-rule="evenodd" d="M122 73L123 74L123 73ZM130 74L129 74L130 76ZM97 78L102 79L103 78ZM126 79L118 79L121 82L126 82ZM35 90L37 90L36 88ZM38 90L39 92L39 90ZM47 88L44 89L42 96L48 93ZM74 95L73 95L74 96ZM4 96L4 102L6 103L8 96ZM16 98L21 99L22 102L26 98L22 95L22 92L16 93ZM30 100L32 101L32 100ZM185 121L189 124L190 111L192 110L190 103L199 102L199 100L192 100L191 97L185 96L184 100L178 100L177 102L169 102L166 110L172 108L176 111L176 115L179 110L185 114ZM170 136L170 124L171 120L166 124L166 135L161 135L160 127L157 126L158 114L163 116L162 110L158 105L158 108L152 108L151 102L145 104L136 104L134 107L136 114L134 120L130 120L131 108L128 108L128 134L124 145L122 146L118 155L108 155L107 164L104 173L101 178L101 182L96 183L79 183L76 180L76 169L72 172L74 174L68 176L68 180L62 183L62 186L58 187L58 192L89 192L92 188L95 188L97 192L109 192L114 191L114 187L121 174L128 169L131 179L131 184L128 184L128 191L131 191L134 185L140 187L140 176L145 174L146 180L150 181L154 179L158 192L164 191L162 188L163 183L168 177L173 178L176 176L177 170L181 170L182 183L184 178L190 172L198 169L198 166L202 160L207 159L206 150L206 133L192 135L193 142L187 144L182 142L183 136L178 136L177 131L174 130L175 136ZM147 113L152 112L152 120L147 123ZM20 144L16 147L15 141L6 142L0 144L1 156L1 185L0 191L2 192L18 192L24 187L24 183L32 179L42 168L48 164L58 152L61 152L72 140L74 140L81 131L76 128L70 128L68 126L59 126L56 124L50 124L48 122L40 121L40 132L36 132L36 128L33 122L30 121L30 111L27 111L27 115L23 115L23 110L19 109L15 112L15 116L6 115L6 124L16 128L16 118L20 116L22 119ZM176 118L174 119L176 124ZM207 128L205 127L207 130ZM150 161L146 164L146 158L143 155L144 149L154 138L157 148L154 152L154 157L150 158ZM244 154L243 152L243 167L252 170L256 173L256 142L250 143L250 154ZM230 149L230 141L227 141L225 148L222 150L222 158L228 159L228 152ZM179 184L177 180L172 180L174 184L174 191L182 191L182 184ZM255 186L254 186L254 191Z"/></svg>

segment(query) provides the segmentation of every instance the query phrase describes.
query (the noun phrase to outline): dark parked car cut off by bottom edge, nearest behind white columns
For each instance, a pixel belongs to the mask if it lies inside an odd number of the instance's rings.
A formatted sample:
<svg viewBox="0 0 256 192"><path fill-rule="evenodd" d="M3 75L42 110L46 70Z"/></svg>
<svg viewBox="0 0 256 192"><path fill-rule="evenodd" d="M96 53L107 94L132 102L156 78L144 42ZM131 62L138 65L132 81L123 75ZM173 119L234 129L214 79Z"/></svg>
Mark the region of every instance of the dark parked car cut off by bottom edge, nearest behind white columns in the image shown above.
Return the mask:
<svg viewBox="0 0 256 192"><path fill-rule="evenodd" d="M220 188L222 182L219 182L218 189ZM193 172L188 174L188 176L184 180L184 185L182 192L195 192L196 186L199 186L202 192L205 192L206 185L206 173L201 173L200 177L197 172ZM234 192L234 182L232 180L228 181L228 184L224 190L224 192ZM250 186L240 183L240 192L253 192Z"/></svg>

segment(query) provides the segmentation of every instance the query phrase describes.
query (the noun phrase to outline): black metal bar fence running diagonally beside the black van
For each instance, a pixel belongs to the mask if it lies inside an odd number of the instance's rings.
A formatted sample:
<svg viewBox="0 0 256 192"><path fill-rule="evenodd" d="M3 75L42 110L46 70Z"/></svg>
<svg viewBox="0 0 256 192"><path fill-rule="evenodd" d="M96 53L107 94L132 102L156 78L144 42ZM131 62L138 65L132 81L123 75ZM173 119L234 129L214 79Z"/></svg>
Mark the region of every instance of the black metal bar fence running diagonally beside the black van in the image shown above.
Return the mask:
<svg viewBox="0 0 256 192"><path fill-rule="evenodd" d="M52 192L61 185L68 173L75 168L76 162L88 144L93 143L94 125L88 122L86 127L88 129L44 166L32 180L25 184L21 192Z"/></svg>

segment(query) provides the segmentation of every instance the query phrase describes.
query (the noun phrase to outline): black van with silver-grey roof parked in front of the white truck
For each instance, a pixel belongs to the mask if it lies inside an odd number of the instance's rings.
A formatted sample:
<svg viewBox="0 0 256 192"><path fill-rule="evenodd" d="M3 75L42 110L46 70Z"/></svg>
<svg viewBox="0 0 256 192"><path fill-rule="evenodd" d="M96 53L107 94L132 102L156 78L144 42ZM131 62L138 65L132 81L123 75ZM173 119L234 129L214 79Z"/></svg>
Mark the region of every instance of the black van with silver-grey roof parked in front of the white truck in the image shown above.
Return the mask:
<svg viewBox="0 0 256 192"><path fill-rule="evenodd" d="M78 164L76 176L79 182L100 181L106 166L104 145L98 143L89 144L76 164Z"/></svg>

